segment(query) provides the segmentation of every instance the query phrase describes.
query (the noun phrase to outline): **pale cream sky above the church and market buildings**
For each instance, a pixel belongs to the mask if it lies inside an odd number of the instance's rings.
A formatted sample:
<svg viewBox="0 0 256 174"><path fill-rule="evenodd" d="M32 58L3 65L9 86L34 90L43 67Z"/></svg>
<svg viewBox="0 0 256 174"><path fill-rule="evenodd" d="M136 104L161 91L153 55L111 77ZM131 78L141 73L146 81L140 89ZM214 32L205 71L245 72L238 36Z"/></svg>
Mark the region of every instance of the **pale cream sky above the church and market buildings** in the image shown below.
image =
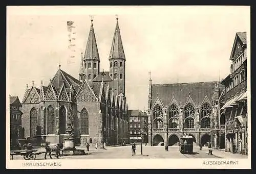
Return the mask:
<svg viewBox="0 0 256 174"><path fill-rule="evenodd" d="M128 109L147 110L153 84L219 81L230 70L237 32L250 32L249 6L7 7L7 90L22 101L26 84L45 86L61 69L78 79L91 16L100 70L109 70L116 15L125 53ZM75 58L68 50L73 20ZM170 96L171 97L171 96Z"/></svg>

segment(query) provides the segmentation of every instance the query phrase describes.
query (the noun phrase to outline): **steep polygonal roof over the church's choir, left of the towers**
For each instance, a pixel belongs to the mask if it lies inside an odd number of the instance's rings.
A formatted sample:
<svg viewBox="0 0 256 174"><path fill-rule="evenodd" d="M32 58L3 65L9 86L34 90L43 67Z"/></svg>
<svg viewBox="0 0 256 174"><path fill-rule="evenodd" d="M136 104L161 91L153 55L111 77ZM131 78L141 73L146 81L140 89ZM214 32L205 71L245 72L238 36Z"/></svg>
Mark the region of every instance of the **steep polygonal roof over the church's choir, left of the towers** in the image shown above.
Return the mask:
<svg viewBox="0 0 256 174"><path fill-rule="evenodd" d="M76 92L79 90L80 85L82 84L80 81L73 78L70 74L61 69L58 69L53 79L51 80L51 83L54 89L57 90L57 93L60 92L62 84L64 84L65 88L70 88L73 86Z"/></svg>

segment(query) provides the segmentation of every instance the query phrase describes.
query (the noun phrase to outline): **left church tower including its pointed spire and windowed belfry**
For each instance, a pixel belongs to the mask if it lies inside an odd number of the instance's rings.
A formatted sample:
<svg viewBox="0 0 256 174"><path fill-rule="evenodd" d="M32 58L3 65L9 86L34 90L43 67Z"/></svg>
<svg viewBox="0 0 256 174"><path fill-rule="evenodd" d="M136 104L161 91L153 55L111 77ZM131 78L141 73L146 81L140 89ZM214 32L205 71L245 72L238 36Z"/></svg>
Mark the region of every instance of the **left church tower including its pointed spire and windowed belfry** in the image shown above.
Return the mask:
<svg viewBox="0 0 256 174"><path fill-rule="evenodd" d="M86 52L83 57L84 79L92 84L93 79L99 74L99 52L96 43L95 33L93 29L93 19L91 19L91 29L86 45ZM80 69L81 71L81 69Z"/></svg>

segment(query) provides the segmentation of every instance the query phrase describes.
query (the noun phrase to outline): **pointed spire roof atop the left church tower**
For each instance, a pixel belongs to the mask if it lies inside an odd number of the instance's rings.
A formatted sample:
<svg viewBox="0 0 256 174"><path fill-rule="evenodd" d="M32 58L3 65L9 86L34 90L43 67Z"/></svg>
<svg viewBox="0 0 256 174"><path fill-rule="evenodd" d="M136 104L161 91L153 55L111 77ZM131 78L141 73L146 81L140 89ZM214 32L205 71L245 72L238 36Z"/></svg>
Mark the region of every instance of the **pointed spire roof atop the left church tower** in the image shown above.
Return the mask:
<svg viewBox="0 0 256 174"><path fill-rule="evenodd" d="M84 59L99 60L99 52L98 52L97 42L96 42L94 28L93 28L93 20L91 21L92 21L92 24L91 24L89 37L87 40L86 52L84 53Z"/></svg>

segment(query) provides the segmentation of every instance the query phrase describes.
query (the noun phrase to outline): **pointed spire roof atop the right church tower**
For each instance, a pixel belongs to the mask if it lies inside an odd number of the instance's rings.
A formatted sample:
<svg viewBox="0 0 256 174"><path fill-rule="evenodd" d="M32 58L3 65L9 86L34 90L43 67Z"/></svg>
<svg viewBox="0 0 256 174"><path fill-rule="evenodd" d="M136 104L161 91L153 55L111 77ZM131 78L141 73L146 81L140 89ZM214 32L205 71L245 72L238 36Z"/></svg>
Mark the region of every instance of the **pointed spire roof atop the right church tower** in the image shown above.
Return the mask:
<svg viewBox="0 0 256 174"><path fill-rule="evenodd" d="M125 60L120 29L118 26L118 18L117 18L116 29L115 29L115 33L112 41L109 59L112 59L112 58L123 58Z"/></svg>

